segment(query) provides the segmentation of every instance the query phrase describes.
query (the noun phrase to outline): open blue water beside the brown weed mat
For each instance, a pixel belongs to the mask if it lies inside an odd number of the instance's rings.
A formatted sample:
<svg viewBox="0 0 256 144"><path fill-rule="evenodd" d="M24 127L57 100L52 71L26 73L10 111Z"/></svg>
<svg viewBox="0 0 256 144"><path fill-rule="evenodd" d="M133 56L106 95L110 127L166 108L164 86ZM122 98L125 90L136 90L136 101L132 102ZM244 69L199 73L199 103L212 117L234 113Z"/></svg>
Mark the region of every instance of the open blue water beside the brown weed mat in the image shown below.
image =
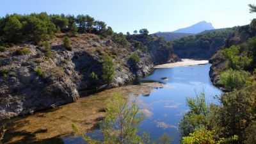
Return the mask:
<svg viewBox="0 0 256 144"><path fill-rule="evenodd" d="M209 78L211 65L197 65L189 67L156 68L152 75L141 78L145 81L157 81L163 83L163 87L154 88L147 94L134 96L129 93L131 99L136 100L146 118L141 125L141 132L150 134L152 140L156 140L162 134L167 133L172 137L172 143L179 143L179 120L188 111L186 97L195 97L196 93L204 90L207 102L214 102L214 95L220 95L221 90L212 85ZM164 78L164 79L163 79ZM99 136L99 131L89 133ZM63 143L81 143L81 138L65 136L61 138Z"/></svg>

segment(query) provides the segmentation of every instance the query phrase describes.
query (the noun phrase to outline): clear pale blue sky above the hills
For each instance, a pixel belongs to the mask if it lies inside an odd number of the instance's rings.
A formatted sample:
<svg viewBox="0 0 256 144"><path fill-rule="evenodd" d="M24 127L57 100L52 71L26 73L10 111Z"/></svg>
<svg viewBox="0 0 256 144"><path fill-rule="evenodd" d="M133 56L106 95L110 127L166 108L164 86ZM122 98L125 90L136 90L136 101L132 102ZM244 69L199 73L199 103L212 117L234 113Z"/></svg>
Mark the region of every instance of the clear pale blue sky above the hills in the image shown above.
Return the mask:
<svg viewBox="0 0 256 144"><path fill-rule="evenodd" d="M88 14L114 31L174 31L205 20L214 28L249 24L255 0L0 0L0 17L19 13Z"/></svg>

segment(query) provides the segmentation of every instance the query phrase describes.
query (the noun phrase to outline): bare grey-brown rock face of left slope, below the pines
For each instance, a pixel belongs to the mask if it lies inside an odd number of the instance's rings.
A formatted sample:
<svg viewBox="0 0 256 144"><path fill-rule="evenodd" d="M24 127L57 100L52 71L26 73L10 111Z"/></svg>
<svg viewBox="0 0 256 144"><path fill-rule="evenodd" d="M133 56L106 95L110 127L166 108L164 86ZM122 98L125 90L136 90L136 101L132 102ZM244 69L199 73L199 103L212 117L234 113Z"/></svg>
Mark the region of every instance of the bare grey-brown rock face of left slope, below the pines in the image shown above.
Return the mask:
<svg viewBox="0 0 256 144"><path fill-rule="evenodd" d="M138 51L140 62L130 60L133 47L118 45L110 38L83 34L70 38L72 51L62 45L63 35L53 38L51 56L44 45L20 44L0 54L0 120L74 102L84 92L129 83L150 74L154 64L175 61L172 48L152 42L149 52ZM30 51L19 55L20 49ZM102 61L111 55L116 75L113 83L102 80ZM99 79L90 79L95 72Z"/></svg>

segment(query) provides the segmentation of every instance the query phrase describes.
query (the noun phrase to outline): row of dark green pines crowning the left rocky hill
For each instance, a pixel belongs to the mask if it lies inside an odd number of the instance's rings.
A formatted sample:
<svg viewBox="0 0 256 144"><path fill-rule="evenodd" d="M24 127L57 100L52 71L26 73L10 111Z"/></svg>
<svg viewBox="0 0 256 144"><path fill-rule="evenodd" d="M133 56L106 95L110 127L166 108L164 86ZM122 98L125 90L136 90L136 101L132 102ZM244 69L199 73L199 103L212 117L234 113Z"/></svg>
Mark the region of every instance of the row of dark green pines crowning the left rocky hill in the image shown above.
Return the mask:
<svg viewBox="0 0 256 144"><path fill-rule="evenodd" d="M17 13L0 18L0 42L17 44L26 40L40 42L54 33L95 33L112 35L113 30L105 22L89 15L48 15L45 12L19 15Z"/></svg>

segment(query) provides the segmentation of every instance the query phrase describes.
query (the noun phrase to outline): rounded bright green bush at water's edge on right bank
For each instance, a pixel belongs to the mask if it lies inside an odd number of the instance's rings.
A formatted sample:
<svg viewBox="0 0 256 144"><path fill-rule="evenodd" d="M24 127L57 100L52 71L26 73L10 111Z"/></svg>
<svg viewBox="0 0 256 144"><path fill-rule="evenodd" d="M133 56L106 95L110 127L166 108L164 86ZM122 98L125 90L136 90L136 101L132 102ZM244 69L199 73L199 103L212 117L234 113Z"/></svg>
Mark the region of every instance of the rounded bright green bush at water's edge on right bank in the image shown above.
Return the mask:
<svg viewBox="0 0 256 144"><path fill-rule="evenodd" d="M220 75L220 84L223 84L224 88L228 91L232 91L235 88L241 89L248 81L250 76L249 72L244 70L227 70Z"/></svg>

